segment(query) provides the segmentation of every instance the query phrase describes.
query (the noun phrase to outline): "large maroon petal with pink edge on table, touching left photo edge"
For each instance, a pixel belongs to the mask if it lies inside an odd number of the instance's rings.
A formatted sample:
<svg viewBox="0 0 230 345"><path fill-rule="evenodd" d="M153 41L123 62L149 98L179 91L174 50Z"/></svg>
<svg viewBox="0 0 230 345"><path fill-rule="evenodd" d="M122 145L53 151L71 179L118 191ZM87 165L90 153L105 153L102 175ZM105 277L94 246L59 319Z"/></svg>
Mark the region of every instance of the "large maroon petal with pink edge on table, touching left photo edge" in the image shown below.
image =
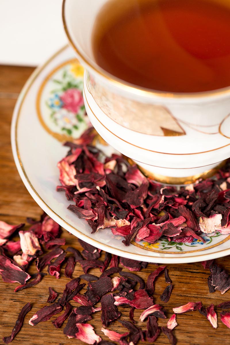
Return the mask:
<svg viewBox="0 0 230 345"><path fill-rule="evenodd" d="M19 266L13 264L10 259L0 255L0 274L6 283L16 283L24 285L30 275L24 272Z"/></svg>

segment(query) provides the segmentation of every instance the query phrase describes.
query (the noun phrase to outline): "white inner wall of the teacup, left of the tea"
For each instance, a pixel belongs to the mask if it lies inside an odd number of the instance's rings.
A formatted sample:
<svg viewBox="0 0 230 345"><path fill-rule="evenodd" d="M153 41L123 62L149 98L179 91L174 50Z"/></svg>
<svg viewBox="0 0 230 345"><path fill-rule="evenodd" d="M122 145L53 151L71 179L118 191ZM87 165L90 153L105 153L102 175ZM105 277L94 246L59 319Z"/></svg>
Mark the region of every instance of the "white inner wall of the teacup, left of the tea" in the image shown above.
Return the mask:
<svg viewBox="0 0 230 345"><path fill-rule="evenodd" d="M74 0L65 2L65 19L75 47L91 65L99 68L92 50L92 31L100 8L108 0ZM66 24L67 25L67 24Z"/></svg>

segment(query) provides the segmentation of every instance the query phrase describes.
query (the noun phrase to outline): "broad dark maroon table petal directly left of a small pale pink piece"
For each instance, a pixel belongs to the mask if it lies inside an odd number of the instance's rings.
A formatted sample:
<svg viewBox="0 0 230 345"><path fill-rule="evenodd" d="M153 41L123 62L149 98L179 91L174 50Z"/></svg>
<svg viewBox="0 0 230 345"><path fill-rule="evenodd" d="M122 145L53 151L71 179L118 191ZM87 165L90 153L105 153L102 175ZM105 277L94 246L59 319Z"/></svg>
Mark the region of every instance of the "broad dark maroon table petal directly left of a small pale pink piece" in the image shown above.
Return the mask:
<svg viewBox="0 0 230 345"><path fill-rule="evenodd" d="M85 296L94 305L97 303L103 295L111 291L113 288L111 279L109 277L103 277L96 282L89 282Z"/></svg>

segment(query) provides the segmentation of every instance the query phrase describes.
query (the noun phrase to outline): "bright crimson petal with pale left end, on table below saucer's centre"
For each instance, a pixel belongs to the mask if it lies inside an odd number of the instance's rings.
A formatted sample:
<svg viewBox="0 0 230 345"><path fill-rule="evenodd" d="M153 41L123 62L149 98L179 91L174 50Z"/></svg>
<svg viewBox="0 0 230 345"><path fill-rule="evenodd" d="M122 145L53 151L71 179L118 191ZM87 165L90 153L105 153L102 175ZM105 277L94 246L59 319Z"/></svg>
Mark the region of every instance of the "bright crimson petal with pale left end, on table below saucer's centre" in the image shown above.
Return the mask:
<svg viewBox="0 0 230 345"><path fill-rule="evenodd" d="M153 305L153 299L148 296L145 290L137 290L134 292L134 298L132 300L126 297L114 296L115 305L128 304L136 309L145 309Z"/></svg>

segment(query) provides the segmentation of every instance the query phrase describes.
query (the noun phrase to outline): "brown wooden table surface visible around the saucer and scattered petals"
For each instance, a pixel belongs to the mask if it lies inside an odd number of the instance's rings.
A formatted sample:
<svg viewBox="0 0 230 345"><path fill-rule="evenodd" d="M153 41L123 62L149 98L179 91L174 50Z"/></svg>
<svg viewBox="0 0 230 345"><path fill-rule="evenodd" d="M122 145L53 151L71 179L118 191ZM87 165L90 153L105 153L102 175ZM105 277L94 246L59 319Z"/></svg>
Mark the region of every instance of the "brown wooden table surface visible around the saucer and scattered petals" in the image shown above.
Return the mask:
<svg viewBox="0 0 230 345"><path fill-rule="evenodd" d="M39 218L42 210L32 199L27 189L23 185L11 152L10 145L10 122L16 99L23 84L33 71L32 68L26 67L7 67L0 66L0 220L9 222L11 224L19 224L26 221L26 217ZM27 228L29 226L27 225ZM78 249L81 247L78 244L77 238L63 230L62 237L66 238L66 246L74 246ZM103 256L102 256L103 258ZM229 257L223 257L216 260L218 264L225 267L230 272ZM137 273L146 280L156 265L148 264L146 269ZM168 303L161 303L160 295L166 286L164 276L160 275L155 282L154 303L163 304L167 315L172 315L172 308L186 304L190 301L202 301L205 307L211 303L218 305L221 302L230 300L230 290L224 295L219 291L210 294L207 278L209 271L204 270L200 263L181 264L181 265L167 265L169 275L173 282L172 295ZM36 269L32 266L29 273L35 273ZM58 344L82 344L76 339L68 339L63 334L63 327L56 329L51 321L56 318L52 317L48 322L41 322L37 326L30 326L28 324L29 318L35 312L46 305L48 298L48 287L51 286L58 293L63 292L65 284L69 281L61 271L61 278L56 279L53 276L45 276L42 281L35 287L25 290L13 292L18 285L4 283L0 277L0 337L8 336L15 325L20 309L27 302L31 302L32 310L27 314L24 325L21 331L16 336L12 344L23 345L58 345ZM97 269L90 271L92 274L98 274ZM82 269L79 264L75 266L74 277L82 274ZM71 301L73 306L78 304ZM130 307L119 307L122 312L123 319L129 319ZM207 319L198 311L190 312L177 316L178 326L175 328L174 334L178 339L179 345L185 344L207 344L219 345L230 344L230 329L228 329L220 321L220 310L218 311L218 328L213 329ZM137 325L141 311L136 310L134 318ZM159 325L166 326L167 320L159 319ZM66 323L66 322L65 322ZM90 322L97 334L103 339L108 340L107 337L100 331L102 327L100 321L100 313L93 315L93 320ZM144 322L142 325L146 326ZM113 329L120 333L126 332L126 329L120 326L118 322L113 323L109 329ZM1 342L1 340L0 340ZM169 344L165 335L161 334L155 344Z"/></svg>

